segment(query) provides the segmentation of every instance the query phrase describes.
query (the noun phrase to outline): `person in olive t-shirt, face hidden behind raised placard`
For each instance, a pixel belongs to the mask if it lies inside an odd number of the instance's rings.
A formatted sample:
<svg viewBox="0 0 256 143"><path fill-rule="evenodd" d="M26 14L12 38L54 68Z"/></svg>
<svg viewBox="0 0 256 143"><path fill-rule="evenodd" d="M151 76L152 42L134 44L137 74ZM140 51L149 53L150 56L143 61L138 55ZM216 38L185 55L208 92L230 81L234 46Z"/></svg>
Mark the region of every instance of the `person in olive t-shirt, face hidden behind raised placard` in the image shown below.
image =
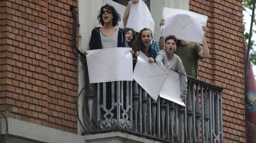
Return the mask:
<svg viewBox="0 0 256 143"><path fill-rule="evenodd" d="M161 19L160 25L163 25L164 23L165 20ZM205 39L205 35L207 33L206 25L202 26L202 29L204 31L204 39L202 46L197 43L189 42L186 40L180 40L179 43L177 44L176 51L174 52L181 58L187 75L195 78L197 78L198 75L199 59L203 59L209 56L209 49L207 41ZM163 43L164 38L160 38L159 44L161 49L163 49L164 47Z"/></svg>

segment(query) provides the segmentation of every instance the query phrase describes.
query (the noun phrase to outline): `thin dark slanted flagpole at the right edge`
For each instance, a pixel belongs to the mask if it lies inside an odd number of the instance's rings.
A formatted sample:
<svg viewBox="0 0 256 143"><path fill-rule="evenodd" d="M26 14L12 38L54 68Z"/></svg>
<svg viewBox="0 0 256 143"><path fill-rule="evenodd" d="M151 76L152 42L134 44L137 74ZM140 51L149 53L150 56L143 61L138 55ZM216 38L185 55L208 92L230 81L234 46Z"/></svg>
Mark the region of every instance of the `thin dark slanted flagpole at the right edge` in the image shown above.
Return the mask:
<svg viewBox="0 0 256 143"><path fill-rule="evenodd" d="M248 39L248 48L247 48L245 67L244 67L244 93L245 93L245 87L246 87L246 83L247 83L246 82L246 80L247 80L247 66L248 66L248 59L249 59L249 52L250 52L250 40L251 40L251 35L252 35L252 25L253 25L253 19L254 19L255 2L256 2L256 0L253 0L252 14L251 14L251 20L250 20L249 39Z"/></svg>

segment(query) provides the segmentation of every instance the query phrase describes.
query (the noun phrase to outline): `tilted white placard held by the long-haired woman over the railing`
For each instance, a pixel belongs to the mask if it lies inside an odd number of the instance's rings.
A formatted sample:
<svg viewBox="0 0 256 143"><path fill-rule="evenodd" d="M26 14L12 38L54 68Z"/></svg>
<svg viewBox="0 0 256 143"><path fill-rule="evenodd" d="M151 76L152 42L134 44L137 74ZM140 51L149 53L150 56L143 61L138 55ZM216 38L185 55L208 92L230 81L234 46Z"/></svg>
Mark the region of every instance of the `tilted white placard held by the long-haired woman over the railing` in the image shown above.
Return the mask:
<svg viewBox="0 0 256 143"><path fill-rule="evenodd" d="M149 57L140 52L134 68L134 79L155 101L167 76L168 73L157 63L150 63Z"/></svg>

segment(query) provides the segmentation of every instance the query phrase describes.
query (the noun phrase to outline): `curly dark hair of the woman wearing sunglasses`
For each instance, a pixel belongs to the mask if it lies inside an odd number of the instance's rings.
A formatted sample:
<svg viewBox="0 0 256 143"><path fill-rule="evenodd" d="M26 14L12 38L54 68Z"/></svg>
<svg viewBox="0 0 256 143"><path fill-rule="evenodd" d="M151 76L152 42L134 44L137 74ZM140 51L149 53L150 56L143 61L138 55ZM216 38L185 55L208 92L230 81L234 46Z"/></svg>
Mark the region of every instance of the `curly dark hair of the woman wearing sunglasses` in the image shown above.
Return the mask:
<svg viewBox="0 0 256 143"><path fill-rule="evenodd" d="M112 25L116 26L118 25L118 22L121 20L120 14L116 11L116 9L112 5L105 4L100 8L99 14L97 16L97 19L99 20L99 24L102 26L104 25L104 21L102 19L102 14L103 14L103 8L105 9L111 9L112 14L113 14L113 20L112 20Z"/></svg>

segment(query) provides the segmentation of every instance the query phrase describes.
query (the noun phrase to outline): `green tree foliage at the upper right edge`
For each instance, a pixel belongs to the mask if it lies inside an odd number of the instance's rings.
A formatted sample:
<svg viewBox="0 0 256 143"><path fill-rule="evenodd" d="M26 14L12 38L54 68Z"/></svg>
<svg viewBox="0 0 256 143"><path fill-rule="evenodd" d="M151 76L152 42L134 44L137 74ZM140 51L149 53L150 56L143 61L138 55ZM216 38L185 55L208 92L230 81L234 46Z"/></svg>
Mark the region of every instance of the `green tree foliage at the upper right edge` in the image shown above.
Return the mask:
<svg viewBox="0 0 256 143"><path fill-rule="evenodd" d="M247 12L250 15L250 17L251 17L251 12L249 12L249 11L252 11L252 5L253 5L253 0L243 0L243 11ZM250 9L250 10L248 10L248 9ZM255 17L256 16L254 14L253 27L255 27L255 25L256 25ZM243 21L243 22L245 23L245 21ZM247 24L250 25L250 21ZM249 29L247 29L247 30L249 30ZM256 34L256 29L255 28L252 31L252 35L253 34ZM248 38L249 38L249 33L248 32L244 33L244 38L245 38L246 42L248 42ZM247 43L247 45L248 45L248 43ZM251 43L250 43L250 60L251 60L252 64L256 65L256 51L255 51L254 48L256 49L256 42L251 38Z"/></svg>

